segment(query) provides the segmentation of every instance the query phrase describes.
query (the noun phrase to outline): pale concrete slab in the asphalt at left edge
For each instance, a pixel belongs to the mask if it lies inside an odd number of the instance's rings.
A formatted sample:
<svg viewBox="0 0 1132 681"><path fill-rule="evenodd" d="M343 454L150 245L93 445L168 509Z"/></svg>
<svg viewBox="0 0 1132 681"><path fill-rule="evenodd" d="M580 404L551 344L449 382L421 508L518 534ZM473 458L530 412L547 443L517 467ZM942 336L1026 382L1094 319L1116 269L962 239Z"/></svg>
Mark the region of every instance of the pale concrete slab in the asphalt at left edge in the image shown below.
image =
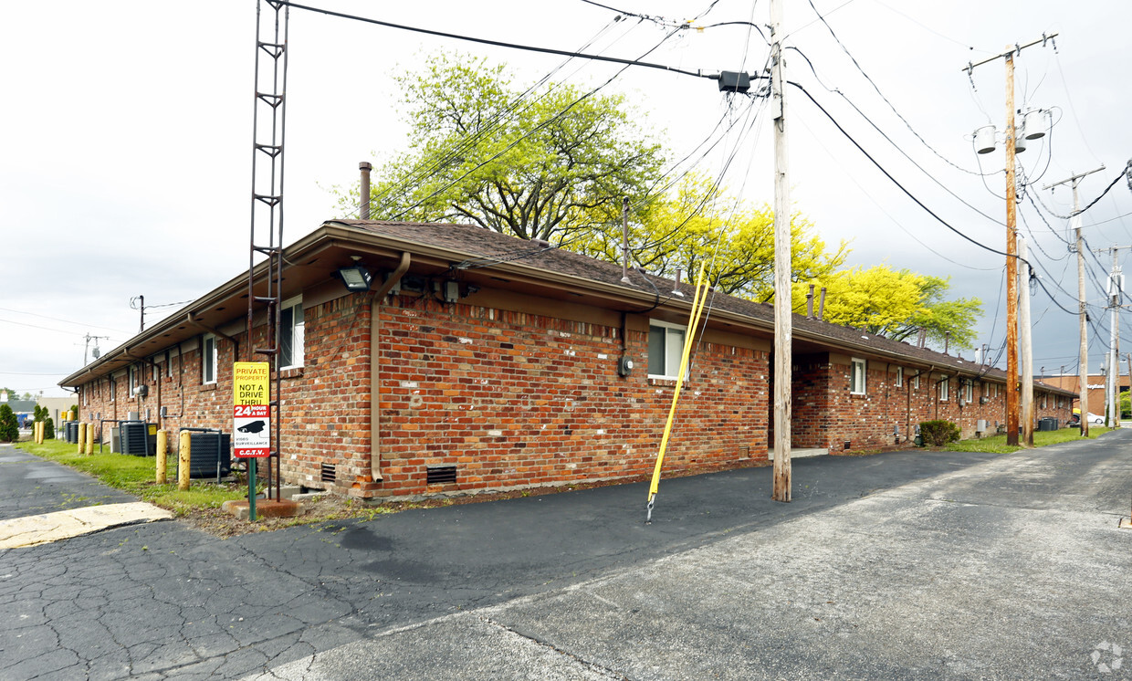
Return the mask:
<svg viewBox="0 0 1132 681"><path fill-rule="evenodd" d="M137 523L168 520L173 514L145 501L87 506L0 520L0 549L36 546Z"/></svg>

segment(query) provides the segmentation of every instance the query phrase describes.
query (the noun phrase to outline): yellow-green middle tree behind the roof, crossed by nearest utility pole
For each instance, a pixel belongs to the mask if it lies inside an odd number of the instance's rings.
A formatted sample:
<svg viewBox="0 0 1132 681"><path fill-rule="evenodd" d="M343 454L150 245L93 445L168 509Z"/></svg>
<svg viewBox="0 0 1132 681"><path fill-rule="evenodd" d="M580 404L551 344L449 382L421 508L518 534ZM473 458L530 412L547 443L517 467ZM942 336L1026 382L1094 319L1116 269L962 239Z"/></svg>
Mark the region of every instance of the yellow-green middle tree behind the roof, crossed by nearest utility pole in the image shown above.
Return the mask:
<svg viewBox="0 0 1132 681"><path fill-rule="evenodd" d="M825 277L849 255L848 244L826 248L814 225L801 215L790 219L791 279ZM595 231L575 248L619 262L620 223ZM766 300L774 292L774 212L730 198L705 176L686 178L668 198L652 201L631 230L633 264L650 274L671 277L677 269L705 276L720 292Z"/></svg>

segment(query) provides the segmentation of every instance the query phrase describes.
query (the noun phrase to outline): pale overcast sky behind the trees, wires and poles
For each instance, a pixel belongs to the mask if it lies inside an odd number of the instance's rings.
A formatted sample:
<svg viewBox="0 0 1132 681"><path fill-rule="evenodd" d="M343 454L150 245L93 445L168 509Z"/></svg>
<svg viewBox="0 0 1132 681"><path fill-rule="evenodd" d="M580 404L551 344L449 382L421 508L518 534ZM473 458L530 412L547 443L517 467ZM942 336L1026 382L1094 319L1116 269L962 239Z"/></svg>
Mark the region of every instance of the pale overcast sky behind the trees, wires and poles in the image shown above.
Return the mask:
<svg viewBox="0 0 1132 681"><path fill-rule="evenodd" d="M578 49L598 36L586 51L631 59L671 33L668 19L702 15L701 26L769 21L766 0L603 2L659 21L615 21L617 12L581 0L311 2L387 21L561 50ZM1002 147L976 158L970 141L971 132L985 124L994 124L1001 137L1004 63L998 59L980 66L969 78L963 71L969 62L1001 54L1007 44L1058 33L1054 43L1028 48L1017 58L1017 106L1053 112L1053 132L1031 141L1019 156L1035 198L1052 213L1067 215L1071 193L1067 187L1054 192L1041 187L1104 165L1107 170L1081 183L1082 202L1088 202L1132 157L1124 74L1132 5L1126 1L814 3L860 69L934 152L854 66L808 0L784 0L787 44L798 50L787 53L787 77L803 84L901 184L978 242L1005 250ZM563 62L559 57L457 43L299 9L292 10L290 29L288 242L341 216L329 190L355 182L359 161L379 166L404 148L406 127L392 79L396 72L415 68L423 55L438 50L507 62L521 83ZM85 336L109 336L98 340L108 350L137 333L131 298L142 294L147 305L169 305L147 312L147 322L156 321L178 309L173 303L194 300L247 267L254 40L254 0L65 0L6 8L0 23L0 386L63 395L55 383L82 367ZM813 63L816 77L799 53ZM757 71L766 54L757 32L730 25L679 32L648 60L705 72ZM617 70L574 61L557 78L598 86ZM674 158L707 138L727 112L713 81L643 68L626 69L604 92L627 94ZM886 262L950 276L953 295L984 301L979 343L1001 346L1004 258L950 232L881 174L800 93L788 92L788 97L795 208L830 243L851 242L850 265ZM735 111L741 112L746 103ZM732 135L718 152L703 158L697 170L718 174L724 153L735 152L726 184L747 200L773 201L773 145L765 114L749 135ZM1075 311L1075 258L1064 242L1067 221L1045 213L1047 226L1029 200L1019 212L1019 231L1030 236L1043 284L1061 305ZM1089 245L1132 245L1130 213L1132 196L1121 180L1083 216ZM1126 256L1118 251L1122 264ZM1090 330L1094 371L1109 328L1104 293L1094 279L1104 282L1109 261L1109 253L1101 252L1087 262L1096 329ZM1071 371L1077 363L1077 318L1040 288L1032 316L1035 371L1045 367L1047 373L1056 372L1061 365ZM1132 324L1122 321L1121 328L1124 347L1132 351ZM959 352L972 356L970 348Z"/></svg>

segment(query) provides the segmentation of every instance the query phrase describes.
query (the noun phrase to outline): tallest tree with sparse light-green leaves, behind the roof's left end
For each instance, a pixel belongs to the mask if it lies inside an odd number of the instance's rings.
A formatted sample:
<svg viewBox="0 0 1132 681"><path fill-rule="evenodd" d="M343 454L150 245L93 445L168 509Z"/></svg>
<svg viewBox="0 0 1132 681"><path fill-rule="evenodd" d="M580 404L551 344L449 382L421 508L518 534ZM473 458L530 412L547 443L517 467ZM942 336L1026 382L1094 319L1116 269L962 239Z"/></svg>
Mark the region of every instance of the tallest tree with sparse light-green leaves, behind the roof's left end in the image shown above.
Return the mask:
<svg viewBox="0 0 1132 681"><path fill-rule="evenodd" d="M621 95L569 84L520 88L506 67L435 54L397 78L409 148L376 171L376 219L474 223L561 243L617 219L621 197L648 193L660 145ZM357 214L358 188L336 188Z"/></svg>

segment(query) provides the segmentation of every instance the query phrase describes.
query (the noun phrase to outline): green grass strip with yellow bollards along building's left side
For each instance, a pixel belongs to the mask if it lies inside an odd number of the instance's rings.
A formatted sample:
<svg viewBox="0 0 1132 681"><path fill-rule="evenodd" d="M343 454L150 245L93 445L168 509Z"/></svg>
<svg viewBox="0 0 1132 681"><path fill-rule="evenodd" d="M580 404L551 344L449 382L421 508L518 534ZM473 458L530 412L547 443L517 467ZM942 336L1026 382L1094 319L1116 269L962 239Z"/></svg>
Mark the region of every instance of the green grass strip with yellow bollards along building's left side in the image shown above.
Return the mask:
<svg viewBox="0 0 1132 681"><path fill-rule="evenodd" d="M173 482L157 484L156 457L110 454L109 447L104 448L105 454L98 454L95 448L93 455L86 456L78 454L76 445L60 440L48 440L43 445L19 442L17 447L28 454L89 473L111 488L129 492L179 515L196 508L218 508L230 499L247 498L247 490L239 485L217 485L200 481L192 481L192 485L185 492L178 491L177 459L173 457L170 457L166 471L166 480Z"/></svg>

